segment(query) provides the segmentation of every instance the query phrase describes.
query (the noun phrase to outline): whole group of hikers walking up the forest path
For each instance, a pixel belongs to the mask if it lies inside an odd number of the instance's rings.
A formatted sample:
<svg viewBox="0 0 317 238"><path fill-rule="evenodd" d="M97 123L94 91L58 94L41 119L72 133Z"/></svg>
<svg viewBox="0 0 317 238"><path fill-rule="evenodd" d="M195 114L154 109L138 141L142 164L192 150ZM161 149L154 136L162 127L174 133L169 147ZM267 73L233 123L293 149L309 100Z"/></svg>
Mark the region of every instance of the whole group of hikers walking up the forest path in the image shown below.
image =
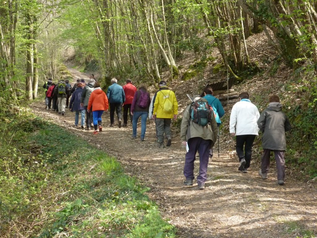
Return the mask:
<svg viewBox="0 0 317 238"><path fill-rule="evenodd" d="M77 80L71 87L68 80L61 80L57 84L51 78L43 85L46 89L46 108L58 111L59 115L65 114L65 108L75 111L74 126L78 126L79 114L81 115L81 128L84 128L86 115L86 129L94 128L93 134L102 131L101 116L110 107L110 127L114 126L114 112L117 114L118 127L127 127L128 114L132 123L132 138L137 138L137 122L141 117L140 141L144 141L147 117L155 120L157 147L171 146L171 120L176 120L178 102L175 93L169 89L164 80L159 82L159 89L152 100L147 91L147 86L141 83L138 89L132 84L131 79L126 80L124 86L111 79L111 85L105 93L96 82L94 75L89 76L89 83L84 79ZM71 96L72 95L72 96ZM71 96L71 98L70 98ZM69 104L68 100L70 98ZM207 180L207 167L213 155L213 146L217 141L220 118L225 111L218 98L213 96L211 84L206 84L200 96L191 99L191 103L183 112L181 122L181 141L186 147L184 164L184 185L193 185L194 161L196 153L199 155L199 174L197 185L199 189L205 188ZM250 167L252 145L258 132L262 134L263 154L261 169L258 174L262 179L268 178L270 152L275 155L277 167L277 184L284 184L285 177L285 132L291 129L287 116L282 111L282 104L277 95L269 97L268 107L260 115L257 107L249 100L249 93L242 92L239 102L231 109L230 134L236 138L236 153L239 158L238 170L248 173ZM58 105L58 107L56 106ZM123 123L121 120L123 108ZM165 133L165 136L164 136Z"/></svg>

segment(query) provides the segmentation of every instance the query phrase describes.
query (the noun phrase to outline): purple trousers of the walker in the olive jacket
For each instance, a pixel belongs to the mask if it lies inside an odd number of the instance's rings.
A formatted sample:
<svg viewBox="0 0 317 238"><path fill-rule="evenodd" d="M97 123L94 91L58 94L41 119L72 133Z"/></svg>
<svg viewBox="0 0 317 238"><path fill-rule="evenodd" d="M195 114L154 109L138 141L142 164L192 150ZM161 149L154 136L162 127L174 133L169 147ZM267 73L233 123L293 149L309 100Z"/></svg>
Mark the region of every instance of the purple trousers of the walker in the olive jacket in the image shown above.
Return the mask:
<svg viewBox="0 0 317 238"><path fill-rule="evenodd" d="M197 184L205 184L207 180L207 167L209 162L210 140L194 137L187 141L188 152L185 155L184 176L186 179L194 179L194 161L196 153L199 154L199 175Z"/></svg>

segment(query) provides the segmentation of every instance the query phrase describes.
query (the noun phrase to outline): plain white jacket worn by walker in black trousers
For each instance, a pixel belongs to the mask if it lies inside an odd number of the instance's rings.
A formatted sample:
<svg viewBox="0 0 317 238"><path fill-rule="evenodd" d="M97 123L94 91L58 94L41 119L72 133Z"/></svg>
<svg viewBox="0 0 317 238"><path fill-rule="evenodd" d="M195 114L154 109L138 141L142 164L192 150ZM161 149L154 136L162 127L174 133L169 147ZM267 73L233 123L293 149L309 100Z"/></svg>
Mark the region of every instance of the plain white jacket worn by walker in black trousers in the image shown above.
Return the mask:
<svg viewBox="0 0 317 238"><path fill-rule="evenodd" d="M232 107L229 126L230 133L236 133L236 136L258 136L259 128L257 125L257 120L259 117L260 113L256 105L251 103L249 99L242 99Z"/></svg>

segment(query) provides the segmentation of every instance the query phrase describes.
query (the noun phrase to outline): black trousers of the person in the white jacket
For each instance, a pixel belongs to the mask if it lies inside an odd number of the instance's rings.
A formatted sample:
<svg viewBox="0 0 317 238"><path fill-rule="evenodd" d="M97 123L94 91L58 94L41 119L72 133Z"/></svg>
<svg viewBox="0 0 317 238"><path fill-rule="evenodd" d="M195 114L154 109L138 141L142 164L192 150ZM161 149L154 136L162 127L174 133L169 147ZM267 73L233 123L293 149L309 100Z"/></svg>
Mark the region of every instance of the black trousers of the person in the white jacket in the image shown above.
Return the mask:
<svg viewBox="0 0 317 238"><path fill-rule="evenodd" d="M247 162L244 166L244 169L250 167L251 155L252 155L252 146L256 135L240 135L236 136L236 152L239 157L239 161L245 159ZM244 146L244 152L243 152Z"/></svg>

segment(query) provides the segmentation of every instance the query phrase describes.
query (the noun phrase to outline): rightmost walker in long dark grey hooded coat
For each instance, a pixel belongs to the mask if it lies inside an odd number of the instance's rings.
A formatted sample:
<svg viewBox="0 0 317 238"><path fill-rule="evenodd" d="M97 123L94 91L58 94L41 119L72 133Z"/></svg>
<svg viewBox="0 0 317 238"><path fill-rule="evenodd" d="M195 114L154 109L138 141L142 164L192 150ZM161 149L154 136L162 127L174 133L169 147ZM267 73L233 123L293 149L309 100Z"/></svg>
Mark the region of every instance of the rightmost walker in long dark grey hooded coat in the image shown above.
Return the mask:
<svg viewBox="0 0 317 238"><path fill-rule="evenodd" d="M282 111L282 104L277 95L271 95L269 97L268 107L261 113L257 124L260 131L263 132L263 154L259 175L262 176L263 179L268 178L267 173L270 165L270 153L271 151L274 151L277 168L277 184L283 185L285 177L285 131L291 129L291 124L285 113Z"/></svg>

